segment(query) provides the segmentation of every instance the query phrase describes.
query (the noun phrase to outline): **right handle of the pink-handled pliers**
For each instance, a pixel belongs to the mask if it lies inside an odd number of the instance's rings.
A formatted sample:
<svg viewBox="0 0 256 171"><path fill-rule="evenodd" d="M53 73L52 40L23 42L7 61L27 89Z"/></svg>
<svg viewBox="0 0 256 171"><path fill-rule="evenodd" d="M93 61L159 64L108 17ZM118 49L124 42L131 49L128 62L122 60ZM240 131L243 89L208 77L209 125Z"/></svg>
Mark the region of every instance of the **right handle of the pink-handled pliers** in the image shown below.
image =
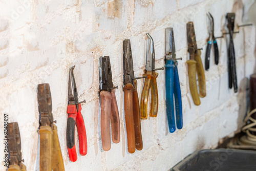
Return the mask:
<svg viewBox="0 0 256 171"><path fill-rule="evenodd" d="M113 89L111 92L111 131L112 131L112 141L118 143L120 141L120 119L118 106L116 101L116 90Z"/></svg>

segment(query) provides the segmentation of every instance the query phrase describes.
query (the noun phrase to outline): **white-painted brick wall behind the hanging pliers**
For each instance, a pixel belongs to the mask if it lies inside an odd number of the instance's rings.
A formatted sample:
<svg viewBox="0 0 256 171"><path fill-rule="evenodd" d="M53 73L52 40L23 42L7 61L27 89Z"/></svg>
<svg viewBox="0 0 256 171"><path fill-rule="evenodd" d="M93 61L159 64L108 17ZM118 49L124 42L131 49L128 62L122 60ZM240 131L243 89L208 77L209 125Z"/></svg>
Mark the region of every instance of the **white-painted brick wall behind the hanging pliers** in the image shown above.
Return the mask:
<svg viewBox="0 0 256 171"><path fill-rule="evenodd" d="M9 115L9 122L18 121L22 153L28 170L39 170L38 107L36 86L50 83L53 116L66 170L167 170L201 148L214 148L219 139L233 135L242 125L246 112L244 81L255 71L255 27L240 29L234 36L237 74L240 91L227 86L227 44L218 39L220 62L214 65L211 53L210 70L205 72L207 96L201 105L191 99L187 66L186 23L193 21L197 44L205 57L207 32L206 13L215 19L215 34L225 30L225 14L236 12L236 23L242 24L242 6L234 0L65 0L5 1L0 3L0 111ZM244 3L248 2L245 0ZM116 11L113 11L113 8ZM246 12L246 11L245 11ZM122 40L131 39L135 76L145 67L145 33L155 42L156 68L164 66L164 29L174 27L179 76L182 91L182 130L168 132L165 113L164 71L157 78L159 112L157 118L142 120L144 148L129 154L123 113ZM98 98L98 59L109 55L113 82L119 86L116 97L120 112L121 141L103 152L100 140ZM74 70L82 115L87 130L88 154L69 162L66 150L68 71ZM204 62L203 62L204 65ZM142 80L138 81L141 94ZM0 127L3 130L3 117ZM0 137L4 137L0 131ZM76 137L77 138L77 137ZM76 141L77 142L77 141ZM0 143L0 156L4 156ZM2 158L2 157L1 157ZM4 170L3 161L0 169Z"/></svg>

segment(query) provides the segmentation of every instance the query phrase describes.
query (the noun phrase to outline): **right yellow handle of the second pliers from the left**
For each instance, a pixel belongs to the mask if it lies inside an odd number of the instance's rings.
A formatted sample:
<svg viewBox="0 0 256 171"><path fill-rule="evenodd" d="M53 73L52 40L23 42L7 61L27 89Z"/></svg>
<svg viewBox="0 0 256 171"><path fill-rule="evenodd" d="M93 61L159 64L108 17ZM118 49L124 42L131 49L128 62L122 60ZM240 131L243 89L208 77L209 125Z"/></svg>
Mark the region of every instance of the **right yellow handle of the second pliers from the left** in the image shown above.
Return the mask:
<svg viewBox="0 0 256 171"><path fill-rule="evenodd" d="M52 148L52 169L53 170L59 170L64 171L64 163L62 159L60 144L59 144L59 138L57 133L57 126L55 124L52 124L53 128L53 148Z"/></svg>

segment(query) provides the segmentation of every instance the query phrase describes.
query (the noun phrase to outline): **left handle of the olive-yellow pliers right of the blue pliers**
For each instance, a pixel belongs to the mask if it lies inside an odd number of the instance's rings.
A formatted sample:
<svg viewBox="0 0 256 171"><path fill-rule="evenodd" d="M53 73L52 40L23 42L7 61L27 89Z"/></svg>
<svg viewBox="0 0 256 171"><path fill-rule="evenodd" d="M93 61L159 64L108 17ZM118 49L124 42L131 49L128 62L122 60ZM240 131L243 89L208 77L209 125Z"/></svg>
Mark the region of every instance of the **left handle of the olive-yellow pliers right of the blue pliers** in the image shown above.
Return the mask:
<svg viewBox="0 0 256 171"><path fill-rule="evenodd" d="M200 105L200 99L197 90L196 60L190 59L186 61L188 66L189 90L195 105Z"/></svg>

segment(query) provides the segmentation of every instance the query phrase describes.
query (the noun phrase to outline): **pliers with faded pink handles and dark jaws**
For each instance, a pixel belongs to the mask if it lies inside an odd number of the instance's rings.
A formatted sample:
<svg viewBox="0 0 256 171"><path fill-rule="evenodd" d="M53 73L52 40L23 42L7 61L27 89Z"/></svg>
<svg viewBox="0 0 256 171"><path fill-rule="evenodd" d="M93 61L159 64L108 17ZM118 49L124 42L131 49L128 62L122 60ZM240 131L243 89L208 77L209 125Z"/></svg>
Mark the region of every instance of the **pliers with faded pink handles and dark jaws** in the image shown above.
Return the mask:
<svg viewBox="0 0 256 171"><path fill-rule="evenodd" d="M100 57L99 62L99 91L101 97L101 142L103 150L109 151L111 148L110 121L112 141L114 143L118 143L120 141L120 120L115 95L115 89L118 89L118 86L113 86L110 57Z"/></svg>

